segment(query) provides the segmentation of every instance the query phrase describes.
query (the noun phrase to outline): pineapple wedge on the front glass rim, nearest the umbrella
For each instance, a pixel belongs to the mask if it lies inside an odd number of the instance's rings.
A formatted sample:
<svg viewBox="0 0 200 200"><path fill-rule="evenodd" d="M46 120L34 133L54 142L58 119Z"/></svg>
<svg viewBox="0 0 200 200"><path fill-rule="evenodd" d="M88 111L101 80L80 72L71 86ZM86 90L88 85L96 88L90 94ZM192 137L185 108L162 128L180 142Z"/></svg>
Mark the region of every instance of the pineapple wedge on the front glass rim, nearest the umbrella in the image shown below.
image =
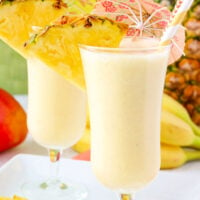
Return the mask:
<svg viewBox="0 0 200 200"><path fill-rule="evenodd" d="M78 44L118 47L128 26L95 15L63 16L53 25L32 36L26 43L30 58L35 57L85 87Z"/></svg>

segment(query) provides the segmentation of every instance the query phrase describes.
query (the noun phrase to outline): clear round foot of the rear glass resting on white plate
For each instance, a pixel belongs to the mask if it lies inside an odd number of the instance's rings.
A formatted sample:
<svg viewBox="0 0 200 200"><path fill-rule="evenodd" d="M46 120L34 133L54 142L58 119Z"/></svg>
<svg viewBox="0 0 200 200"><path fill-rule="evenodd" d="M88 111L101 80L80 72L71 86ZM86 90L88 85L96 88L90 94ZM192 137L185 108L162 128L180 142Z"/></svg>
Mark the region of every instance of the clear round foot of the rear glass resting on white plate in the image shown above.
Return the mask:
<svg viewBox="0 0 200 200"><path fill-rule="evenodd" d="M25 183L21 189L29 200L85 200L88 197L85 186L59 180Z"/></svg>

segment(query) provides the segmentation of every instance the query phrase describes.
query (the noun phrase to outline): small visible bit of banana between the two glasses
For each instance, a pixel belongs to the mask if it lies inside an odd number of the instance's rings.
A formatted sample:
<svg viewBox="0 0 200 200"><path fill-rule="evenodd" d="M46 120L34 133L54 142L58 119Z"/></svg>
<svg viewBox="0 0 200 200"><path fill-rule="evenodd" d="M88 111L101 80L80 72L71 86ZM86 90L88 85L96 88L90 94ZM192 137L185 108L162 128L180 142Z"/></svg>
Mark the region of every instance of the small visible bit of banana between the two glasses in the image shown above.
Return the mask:
<svg viewBox="0 0 200 200"><path fill-rule="evenodd" d="M86 127L82 138L72 147L78 153L90 150L90 128Z"/></svg>

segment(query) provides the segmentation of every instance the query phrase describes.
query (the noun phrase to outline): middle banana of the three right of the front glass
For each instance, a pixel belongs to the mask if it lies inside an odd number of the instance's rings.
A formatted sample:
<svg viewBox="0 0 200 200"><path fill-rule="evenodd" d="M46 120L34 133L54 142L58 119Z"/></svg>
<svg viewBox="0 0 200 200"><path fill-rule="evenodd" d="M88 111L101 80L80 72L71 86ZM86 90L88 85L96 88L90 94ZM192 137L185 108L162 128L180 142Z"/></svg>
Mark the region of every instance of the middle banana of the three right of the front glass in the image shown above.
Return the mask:
<svg viewBox="0 0 200 200"><path fill-rule="evenodd" d="M187 146L200 149L200 137L192 128L174 114L162 110L161 142L175 146Z"/></svg>

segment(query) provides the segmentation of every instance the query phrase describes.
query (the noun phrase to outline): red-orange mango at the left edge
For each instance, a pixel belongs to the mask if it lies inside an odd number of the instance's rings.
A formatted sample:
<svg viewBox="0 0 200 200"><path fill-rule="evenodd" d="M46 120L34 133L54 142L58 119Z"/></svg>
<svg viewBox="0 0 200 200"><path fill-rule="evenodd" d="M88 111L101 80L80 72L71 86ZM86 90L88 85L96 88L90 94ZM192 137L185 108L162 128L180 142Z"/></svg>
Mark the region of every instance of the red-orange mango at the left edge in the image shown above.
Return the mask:
<svg viewBox="0 0 200 200"><path fill-rule="evenodd" d="M0 152L18 145L26 135L26 113L14 97L0 88Z"/></svg>

